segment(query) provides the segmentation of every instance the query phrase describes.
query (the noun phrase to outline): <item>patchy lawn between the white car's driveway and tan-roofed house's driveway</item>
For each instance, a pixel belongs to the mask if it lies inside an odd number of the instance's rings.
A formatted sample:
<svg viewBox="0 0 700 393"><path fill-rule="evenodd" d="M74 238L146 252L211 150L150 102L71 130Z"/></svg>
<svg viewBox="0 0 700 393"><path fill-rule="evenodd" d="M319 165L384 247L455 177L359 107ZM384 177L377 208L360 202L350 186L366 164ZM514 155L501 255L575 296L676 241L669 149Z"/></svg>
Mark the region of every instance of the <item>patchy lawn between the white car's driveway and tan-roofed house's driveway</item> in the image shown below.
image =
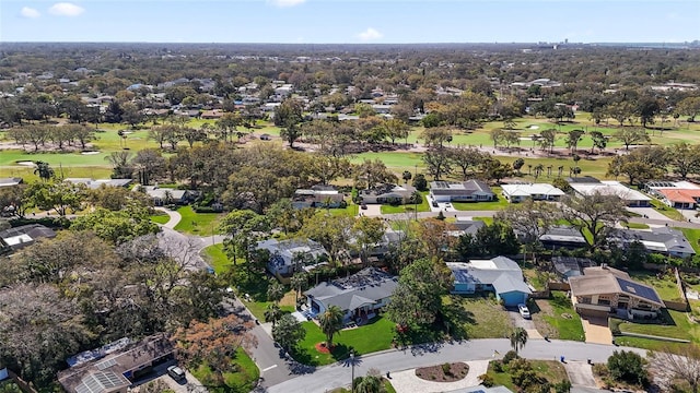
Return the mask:
<svg viewBox="0 0 700 393"><path fill-rule="evenodd" d="M541 307L540 307L541 306ZM538 300L530 306L537 330L552 338L584 341L581 318L563 291L552 291L548 300Z"/></svg>

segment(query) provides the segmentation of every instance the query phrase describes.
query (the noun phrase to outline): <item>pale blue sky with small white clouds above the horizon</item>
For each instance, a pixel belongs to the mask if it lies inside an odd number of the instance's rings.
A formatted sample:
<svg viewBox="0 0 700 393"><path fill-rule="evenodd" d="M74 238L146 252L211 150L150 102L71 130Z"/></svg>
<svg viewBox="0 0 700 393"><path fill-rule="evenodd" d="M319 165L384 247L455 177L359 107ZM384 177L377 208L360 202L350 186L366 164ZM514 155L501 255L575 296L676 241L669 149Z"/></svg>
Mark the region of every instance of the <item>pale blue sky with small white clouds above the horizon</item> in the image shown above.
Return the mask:
<svg viewBox="0 0 700 393"><path fill-rule="evenodd" d="M0 0L0 41L682 43L700 0Z"/></svg>

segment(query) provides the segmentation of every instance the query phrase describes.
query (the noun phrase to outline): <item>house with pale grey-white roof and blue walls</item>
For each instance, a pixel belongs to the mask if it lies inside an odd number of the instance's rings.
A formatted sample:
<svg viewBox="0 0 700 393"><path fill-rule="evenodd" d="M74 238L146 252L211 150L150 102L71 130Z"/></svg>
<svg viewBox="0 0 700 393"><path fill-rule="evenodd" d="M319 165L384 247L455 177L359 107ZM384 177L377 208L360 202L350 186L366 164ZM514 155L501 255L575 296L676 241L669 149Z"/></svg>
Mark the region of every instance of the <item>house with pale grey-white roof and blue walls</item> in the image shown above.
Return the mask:
<svg viewBox="0 0 700 393"><path fill-rule="evenodd" d="M477 294L490 291L505 306L525 302L532 294L525 284L523 271L515 261L497 257L491 260L447 262L454 275L453 294Z"/></svg>

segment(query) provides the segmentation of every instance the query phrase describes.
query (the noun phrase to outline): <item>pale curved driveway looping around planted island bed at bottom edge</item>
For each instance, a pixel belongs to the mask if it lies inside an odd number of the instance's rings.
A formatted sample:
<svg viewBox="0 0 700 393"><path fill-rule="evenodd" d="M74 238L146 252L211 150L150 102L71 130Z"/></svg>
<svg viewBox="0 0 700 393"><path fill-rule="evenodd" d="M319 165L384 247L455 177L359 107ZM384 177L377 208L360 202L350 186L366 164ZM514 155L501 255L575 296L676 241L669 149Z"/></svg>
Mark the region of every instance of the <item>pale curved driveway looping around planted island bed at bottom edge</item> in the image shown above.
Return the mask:
<svg viewBox="0 0 700 393"><path fill-rule="evenodd" d="M459 381L433 382L416 377L416 370L410 369L393 373L392 385L401 393L434 393L447 392L457 389L465 389L481 384L479 376L485 374L489 368L489 360L466 361L469 365L469 372Z"/></svg>

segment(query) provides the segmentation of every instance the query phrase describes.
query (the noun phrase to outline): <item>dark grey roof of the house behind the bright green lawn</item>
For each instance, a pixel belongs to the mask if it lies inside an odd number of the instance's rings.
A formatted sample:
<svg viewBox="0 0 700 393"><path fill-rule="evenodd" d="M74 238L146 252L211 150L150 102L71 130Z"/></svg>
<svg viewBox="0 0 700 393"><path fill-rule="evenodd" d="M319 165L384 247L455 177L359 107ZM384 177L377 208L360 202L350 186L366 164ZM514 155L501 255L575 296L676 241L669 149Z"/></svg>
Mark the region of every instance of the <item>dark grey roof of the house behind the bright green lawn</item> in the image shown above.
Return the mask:
<svg viewBox="0 0 700 393"><path fill-rule="evenodd" d="M326 307L338 306L345 311L387 298L397 285L398 279L388 273L376 267L365 267L347 278L316 285L304 294L322 301Z"/></svg>

